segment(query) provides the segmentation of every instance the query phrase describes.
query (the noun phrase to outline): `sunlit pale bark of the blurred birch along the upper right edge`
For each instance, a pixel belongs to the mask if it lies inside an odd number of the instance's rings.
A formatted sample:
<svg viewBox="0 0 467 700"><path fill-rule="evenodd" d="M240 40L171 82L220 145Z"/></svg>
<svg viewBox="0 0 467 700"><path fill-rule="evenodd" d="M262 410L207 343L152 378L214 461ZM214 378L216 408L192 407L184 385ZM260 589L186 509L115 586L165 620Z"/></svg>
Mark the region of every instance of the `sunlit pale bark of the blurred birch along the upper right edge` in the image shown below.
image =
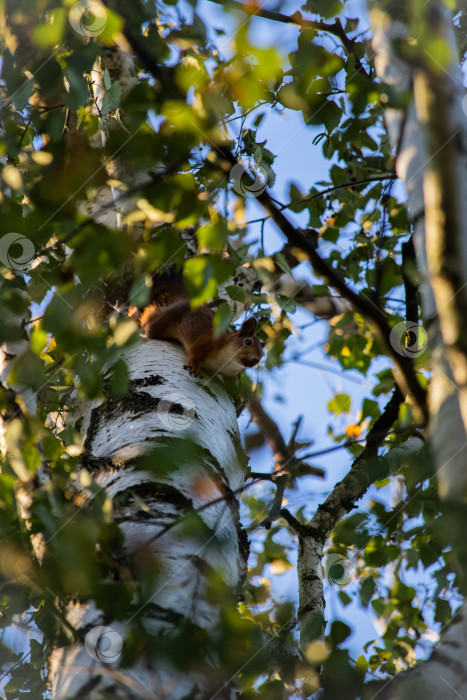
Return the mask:
<svg viewBox="0 0 467 700"><path fill-rule="evenodd" d="M423 84L427 80L423 76L426 76L426 73L420 70L414 72L407 63L404 63L396 55L391 42L391 36L395 34L391 32L391 17L379 9L373 10L371 16L375 68L378 77L398 92L412 91L414 81L418 85L418 106L416 107L415 101L412 101L405 112L388 108L385 110L385 121L389 138L396 150L396 171L407 189L409 216L414 230L417 267L422 275L422 313L424 326L428 332L433 372L429 391L430 444L437 465L439 491L443 498L458 499L463 497L467 488L465 418L463 421L459 410L458 387L460 388L460 385L458 384L456 387L453 365L449 361L449 354L446 353L446 331L444 330L442 334L440 326L440 320L445 327L446 324L452 324L453 315L448 313L449 306L446 304L454 303L458 295L454 294L451 302L448 302L449 293L446 296L445 291L445 296L443 296L441 291L443 283L437 268L445 260L442 241L446 238L460 241L462 237L465 239L467 235L462 229L465 227L465 216L464 222L461 224L458 212L459 207L465 207L465 201L467 201L465 195L463 198L461 195L461 188L465 190L465 186L461 184L462 180L465 183L467 178L465 173L461 176L459 172L460 169L465 170L466 167L466 149L461 147L461 136L464 129L461 128L459 122L461 90L463 88L457 64L456 46L451 25L452 18L449 13L442 10L441 3L431 3L430 8L431 11L435 10L437 32L450 47L453 61L449 66L449 71L442 72L436 78L435 82L439 92L428 111L427 105L425 105L422 115L420 115L421 102L425 99L423 95L426 97ZM443 105L442 109L440 109L440 105ZM451 112L453 111L457 115L455 123L452 123ZM437 126L425 124L427 128L423 129L420 116L426 122L429 115L431 115L430 119L439 123ZM463 121L465 122L465 116L463 116ZM440 124L443 125L442 129ZM440 128L439 133L438 127ZM438 164L439 160L444 164L443 167L451 171L449 176L446 175L445 183L441 181L444 176L440 179L430 174L433 168L439 172L439 168L442 167ZM457 181L453 182L452 178ZM448 209L453 209L450 220L457 222L452 223L450 228L446 227L447 221L440 218L442 210L447 211L444 209L447 202L442 204L440 200L441 191L445 187L450 189L451 197L456 202L451 202L448 207ZM459 243L459 245L465 244ZM455 261L451 257L451 262L455 262L456 268L459 265L464 265L465 268L465 264L462 262L465 259L465 253L460 251L458 253ZM446 273L446 270L444 272ZM461 283L459 285L461 286ZM436 293L436 287L439 287L438 293ZM446 286L444 286L444 290L446 290ZM462 299L458 298L458 303L461 301ZM457 320L459 321L459 317ZM413 321L414 319L407 319L408 323ZM457 328L460 330L459 325ZM451 343L452 338L453 336L451 336Z"/></svg>

